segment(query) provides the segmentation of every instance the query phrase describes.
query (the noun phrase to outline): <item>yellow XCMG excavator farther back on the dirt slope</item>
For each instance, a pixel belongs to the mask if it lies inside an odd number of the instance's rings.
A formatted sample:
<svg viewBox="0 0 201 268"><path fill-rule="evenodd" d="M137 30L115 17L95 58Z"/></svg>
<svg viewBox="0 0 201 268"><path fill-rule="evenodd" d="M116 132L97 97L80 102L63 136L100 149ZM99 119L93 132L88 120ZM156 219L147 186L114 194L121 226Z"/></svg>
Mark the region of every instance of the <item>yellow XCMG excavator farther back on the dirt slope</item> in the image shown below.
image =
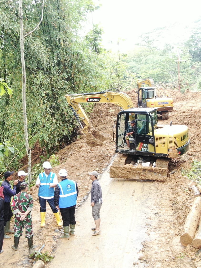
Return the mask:
<svg viewBox="0 0 201 268"><path fill-rule="evenodd" d="M162 120L168 119L168 111L173 109L173 99L161 96L158 97L154 88L154 81L151 77L137 80L137 104L138 107L157 107L157 114ZM165 92L163 92L165 94Z"/></svg>

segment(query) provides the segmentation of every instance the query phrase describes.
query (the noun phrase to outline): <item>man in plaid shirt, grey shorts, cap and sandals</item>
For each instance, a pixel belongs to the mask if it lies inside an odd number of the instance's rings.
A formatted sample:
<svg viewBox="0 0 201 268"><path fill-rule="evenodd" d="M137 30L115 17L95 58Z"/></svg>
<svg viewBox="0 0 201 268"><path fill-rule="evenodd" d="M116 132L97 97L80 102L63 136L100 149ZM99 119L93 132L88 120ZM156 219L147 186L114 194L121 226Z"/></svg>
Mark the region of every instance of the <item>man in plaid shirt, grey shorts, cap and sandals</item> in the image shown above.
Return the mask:
<svg viewBox="0 0 201 268"><path fill-rule="evenodd" d="M94 218L96 227L91 228L93 236L99 235L101 233L100 229L100 223L101 223L101 217L100 217L100 209L102 206L102 191L101 191L101 185L97 180L98 172L92 171L89 173L90 180L92 180L92 186L91 186L91 206L92 206L92 217Z"/></svg>

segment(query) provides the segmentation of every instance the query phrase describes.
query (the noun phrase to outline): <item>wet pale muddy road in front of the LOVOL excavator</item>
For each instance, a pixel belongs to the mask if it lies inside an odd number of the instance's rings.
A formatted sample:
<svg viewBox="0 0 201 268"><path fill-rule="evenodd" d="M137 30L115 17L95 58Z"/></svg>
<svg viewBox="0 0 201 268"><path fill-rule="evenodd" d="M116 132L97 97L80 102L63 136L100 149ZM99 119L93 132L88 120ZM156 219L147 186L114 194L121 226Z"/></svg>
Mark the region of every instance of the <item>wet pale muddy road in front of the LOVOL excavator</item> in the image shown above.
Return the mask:
<svg viewBox="0 0 201 268"><path fill-rule="evenodd" d="M148 239L147 217L155 211L154 200L149 202L145 194L154 190L153 183L117 181L107 170L99 181L104 193L101 234L92 236L89 197L76 213L76 236L58 241L55 258L47 267L133 267L133 262L139 262L141 243Z"/></svg>

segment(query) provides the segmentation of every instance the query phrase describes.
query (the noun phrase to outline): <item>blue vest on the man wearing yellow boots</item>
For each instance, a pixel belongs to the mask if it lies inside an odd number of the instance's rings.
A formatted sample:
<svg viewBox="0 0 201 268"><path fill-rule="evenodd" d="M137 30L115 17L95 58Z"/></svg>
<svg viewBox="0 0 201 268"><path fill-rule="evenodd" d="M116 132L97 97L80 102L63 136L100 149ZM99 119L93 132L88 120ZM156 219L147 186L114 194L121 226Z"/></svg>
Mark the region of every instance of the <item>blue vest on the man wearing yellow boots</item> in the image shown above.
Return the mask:
<svg viewBox="0 0 201 268"><path fill-rule="evenodd" d="M53 187L49 188L50 187L49 183L53 183L54 176L55 173L53 172L50 172L48 177L46 177L44 172L39 174L40 179L40 187L38 190L39 196L46 196L46 197L54 196L54 188Z"/></svg>

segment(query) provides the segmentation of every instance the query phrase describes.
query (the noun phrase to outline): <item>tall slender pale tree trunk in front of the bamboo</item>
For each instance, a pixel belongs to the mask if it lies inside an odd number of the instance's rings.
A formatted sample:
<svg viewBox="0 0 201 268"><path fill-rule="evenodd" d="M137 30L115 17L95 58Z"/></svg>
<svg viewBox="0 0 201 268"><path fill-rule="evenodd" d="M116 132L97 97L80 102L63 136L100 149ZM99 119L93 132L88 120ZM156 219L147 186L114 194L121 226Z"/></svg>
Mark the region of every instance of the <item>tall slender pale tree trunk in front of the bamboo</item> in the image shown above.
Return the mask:
<svg viewBox="0 0 201 268"><path fill-rule="evenodd" d="M22 107L23 107L23 121L24 121L24 139L25 147L28 157L28 185L31 183L31 150L29 148L28 129L27 129L27 109L26 109L26 70L24 61L24 32L23 32L23 12L22 12L22 0L19 0L19 12L20 12L20 52L22 62Z"/></svg>

